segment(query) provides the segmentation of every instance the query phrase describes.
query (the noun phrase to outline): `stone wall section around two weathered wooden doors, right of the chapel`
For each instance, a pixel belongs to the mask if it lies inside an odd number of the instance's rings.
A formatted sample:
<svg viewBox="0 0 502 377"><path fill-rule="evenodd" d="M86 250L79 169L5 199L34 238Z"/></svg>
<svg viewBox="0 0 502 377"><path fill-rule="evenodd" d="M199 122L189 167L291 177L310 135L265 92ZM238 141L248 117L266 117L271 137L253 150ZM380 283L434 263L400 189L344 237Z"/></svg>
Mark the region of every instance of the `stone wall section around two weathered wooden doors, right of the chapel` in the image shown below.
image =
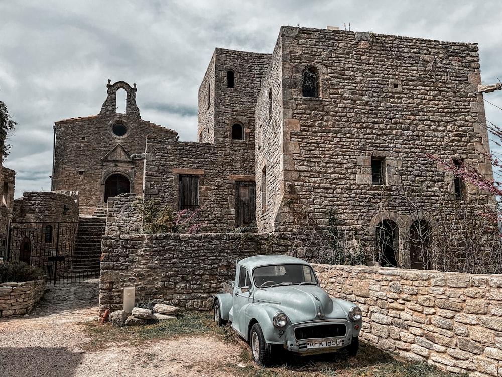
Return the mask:
<svg viewBox="0 0 502 377"><path fill-rule="evenodd" d="M175 142L149 136L145 161L146 200L161 200L178 210L180 174L198 175L199 206L196 219L207 224L197 231L235 229L236 181L254 181L254 163L246 143Z"/></svg>

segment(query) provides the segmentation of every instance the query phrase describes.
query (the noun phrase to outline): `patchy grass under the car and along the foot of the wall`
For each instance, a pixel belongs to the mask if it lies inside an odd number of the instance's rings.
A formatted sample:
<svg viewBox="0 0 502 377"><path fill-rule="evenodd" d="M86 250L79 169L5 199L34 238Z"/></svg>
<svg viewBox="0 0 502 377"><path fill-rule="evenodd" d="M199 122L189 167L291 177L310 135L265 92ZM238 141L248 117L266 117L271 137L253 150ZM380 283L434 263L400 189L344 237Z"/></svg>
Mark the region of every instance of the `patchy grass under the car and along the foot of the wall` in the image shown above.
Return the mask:
<svg viewBox="0 0 502 377"><path fill-rule="evenodd" d="M356 357L348 357L343 351L300 357L284 349L274 350L274 365L261 368L253 363L249 345L229 325L217 327L211 313L186 312L177 321L164 321L144 326L113 327L86 325L92 339L90 347L102 347L107 343L141 343L153 339L207 334L222 341L234 343L240 349L231 364L220 365L236 377L459 377L439 371L427 363L409 363L398 360L390 353L381 351L363 341ZM218 352L217 349L214 350ZM147 354L147 362L153 361ZM170 360L177 362L177 360Z"/></svg>

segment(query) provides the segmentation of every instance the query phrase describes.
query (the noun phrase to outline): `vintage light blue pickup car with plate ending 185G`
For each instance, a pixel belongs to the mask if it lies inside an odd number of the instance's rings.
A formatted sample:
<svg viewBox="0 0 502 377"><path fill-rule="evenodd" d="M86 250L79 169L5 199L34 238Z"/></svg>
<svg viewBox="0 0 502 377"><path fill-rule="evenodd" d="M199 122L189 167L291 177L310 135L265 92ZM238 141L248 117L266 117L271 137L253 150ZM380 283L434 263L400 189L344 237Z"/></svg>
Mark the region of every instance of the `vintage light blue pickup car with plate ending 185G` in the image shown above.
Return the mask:
<svg viewBox="0 0 502 377"><path fill-rule="evenodd" d="M357 353L361 309L333 299L319 287L304 260L261 255L237 263L235 282L214 298L214 320L231 322L251 346L258 365L271 362L274 347L300 355L346 349Z"/></svg>

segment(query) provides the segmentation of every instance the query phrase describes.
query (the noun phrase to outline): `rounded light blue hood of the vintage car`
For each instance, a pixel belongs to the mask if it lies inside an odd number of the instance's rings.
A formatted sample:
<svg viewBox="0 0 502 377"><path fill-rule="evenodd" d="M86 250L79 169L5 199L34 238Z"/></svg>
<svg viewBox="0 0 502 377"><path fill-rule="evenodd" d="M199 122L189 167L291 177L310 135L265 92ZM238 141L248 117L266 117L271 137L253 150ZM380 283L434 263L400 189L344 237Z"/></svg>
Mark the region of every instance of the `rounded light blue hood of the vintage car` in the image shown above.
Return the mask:
<svg viewBox="0 0 502 377"><path fill-rule="evenodd" d="M257 289L255 303L271 305L282 310L292 323L345 319L345 310L320 287L291 285Z"/></svg>

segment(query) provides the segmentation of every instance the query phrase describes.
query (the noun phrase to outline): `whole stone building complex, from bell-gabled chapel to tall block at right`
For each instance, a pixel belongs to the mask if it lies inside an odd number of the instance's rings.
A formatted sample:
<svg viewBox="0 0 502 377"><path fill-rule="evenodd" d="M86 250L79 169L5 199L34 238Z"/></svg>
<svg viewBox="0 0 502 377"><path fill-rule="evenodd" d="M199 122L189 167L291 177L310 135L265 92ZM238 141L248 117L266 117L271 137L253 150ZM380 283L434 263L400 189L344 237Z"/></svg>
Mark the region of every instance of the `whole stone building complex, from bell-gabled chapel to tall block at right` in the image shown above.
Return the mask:
<svg viewBox="0 0 502 377"><path fill-rule="evenodd" d="M427 268L440 214L493 204L426 155L492 179L479 67L474 43L284 26L272 54L215 49L198 142L142 120L136 85L109 81L98 115L56 122L52 189L78 191L83 214L132 193L201 209L199 232L257 228L300 256L337 242Z"/></svg>

